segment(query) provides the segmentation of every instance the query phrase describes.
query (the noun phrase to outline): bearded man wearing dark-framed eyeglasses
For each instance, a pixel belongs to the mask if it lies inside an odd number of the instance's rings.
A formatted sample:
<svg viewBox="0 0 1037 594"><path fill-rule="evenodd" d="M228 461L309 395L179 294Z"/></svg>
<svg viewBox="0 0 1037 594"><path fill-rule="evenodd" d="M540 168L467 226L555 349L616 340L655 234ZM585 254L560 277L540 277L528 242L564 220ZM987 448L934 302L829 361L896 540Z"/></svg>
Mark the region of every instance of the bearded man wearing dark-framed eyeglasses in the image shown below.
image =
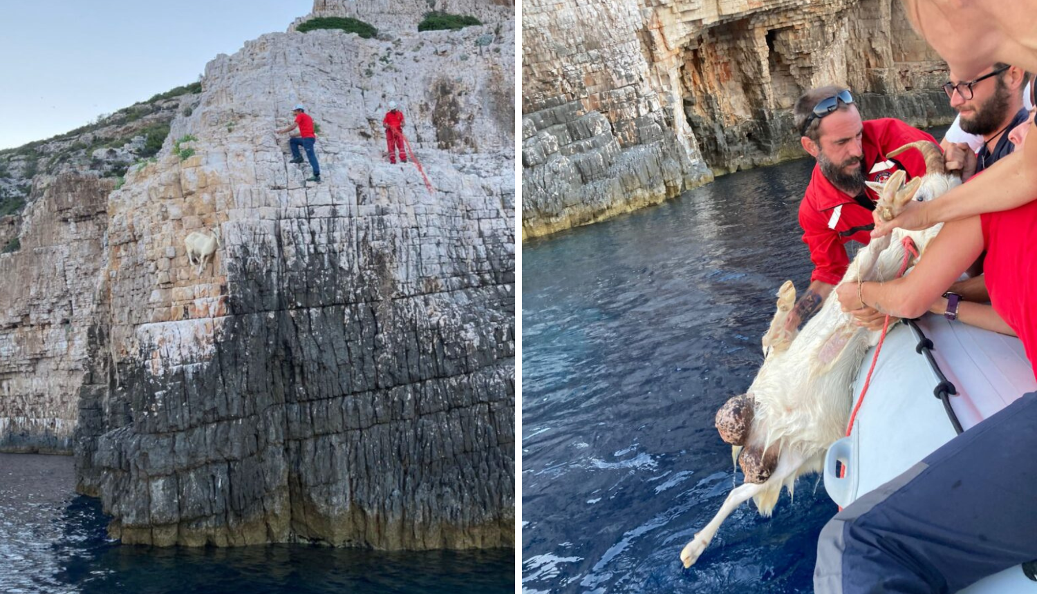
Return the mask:
<svg viewBox="0 0 1037 594"><path fill-rule="evenodd" d="M962 180L1014 149L1008 132L1029 116L1022 93L1029 78L1022 68L1001 62L985 68L971 81L961 81L951 72L951 80L944 84L944 91L951 107L958 112L958 118L947 131L943 146L948 166L960 168Z"/></svg>

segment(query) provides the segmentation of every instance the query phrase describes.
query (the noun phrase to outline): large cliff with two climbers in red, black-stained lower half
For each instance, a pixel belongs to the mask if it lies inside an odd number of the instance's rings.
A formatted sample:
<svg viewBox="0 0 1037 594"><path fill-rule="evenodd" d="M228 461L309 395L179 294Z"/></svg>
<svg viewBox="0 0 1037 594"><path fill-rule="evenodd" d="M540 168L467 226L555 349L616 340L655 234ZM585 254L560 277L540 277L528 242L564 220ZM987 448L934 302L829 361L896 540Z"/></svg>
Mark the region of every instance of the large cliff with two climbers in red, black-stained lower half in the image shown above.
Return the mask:
<svg viewBox="0 0 1037 594"><path fill-rule="evenodd" d="M107 196L75 453L113 536L513 544L514 20L498 13L247 43ZM432 192L385 158L390 100ZM274 133L296 103L321 183ZM220 239L200 272L192 231Z"/></svg>

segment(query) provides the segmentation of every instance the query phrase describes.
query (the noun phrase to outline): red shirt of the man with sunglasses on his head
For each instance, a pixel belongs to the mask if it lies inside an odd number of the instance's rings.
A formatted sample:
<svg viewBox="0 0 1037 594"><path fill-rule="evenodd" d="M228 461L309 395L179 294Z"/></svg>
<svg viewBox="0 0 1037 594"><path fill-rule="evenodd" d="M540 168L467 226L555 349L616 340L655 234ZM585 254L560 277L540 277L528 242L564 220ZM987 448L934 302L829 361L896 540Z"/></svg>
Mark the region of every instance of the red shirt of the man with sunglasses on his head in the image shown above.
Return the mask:
<svg viewBox="0 0 1037 594"><path fill-rule="evenodd" d="M885 181L901 167L907 172L907 179L924 174L925 159L918 150L902 152L894 160L886 159L886 153L918 140L936 142L921 130L890 117L865 121L863 136L864 170L868 181ZM872 202L878 200L871 189L866 190L866 194ZM810 280L834 285L842 280L849 266L849 256L843 246L849 241L868 245L874 225L871 210L833 186L821 173L820 166L815 165L800 203L800 226L814 262Z"/></svg>

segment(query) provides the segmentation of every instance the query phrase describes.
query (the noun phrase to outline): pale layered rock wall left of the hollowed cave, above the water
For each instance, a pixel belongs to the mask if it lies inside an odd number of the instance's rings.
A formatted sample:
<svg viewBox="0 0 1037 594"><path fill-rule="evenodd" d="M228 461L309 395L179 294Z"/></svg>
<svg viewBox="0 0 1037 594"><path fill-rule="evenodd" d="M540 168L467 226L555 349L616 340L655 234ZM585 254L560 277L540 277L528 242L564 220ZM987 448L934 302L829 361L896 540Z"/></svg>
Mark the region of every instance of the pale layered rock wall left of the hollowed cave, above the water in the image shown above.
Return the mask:
<svg viewBox="0 0 1037 594"><path fill-rule="evenodd" d="M712 179L643 29L636 2L523 3L523 238Z"/></svg>

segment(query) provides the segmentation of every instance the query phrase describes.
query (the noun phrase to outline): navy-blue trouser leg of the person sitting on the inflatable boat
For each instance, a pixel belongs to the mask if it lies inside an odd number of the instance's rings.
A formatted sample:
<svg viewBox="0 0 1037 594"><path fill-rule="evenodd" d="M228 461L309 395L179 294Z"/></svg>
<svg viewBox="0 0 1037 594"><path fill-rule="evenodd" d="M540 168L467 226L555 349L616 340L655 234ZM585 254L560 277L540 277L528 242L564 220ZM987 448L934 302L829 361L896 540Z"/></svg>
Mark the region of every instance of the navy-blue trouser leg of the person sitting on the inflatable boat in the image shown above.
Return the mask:
<svg viewBox="0 0 1037 594"><path fill-rule="evenodd" d="M1031 392L839 512L814 591L957 592L1037 559L1035 426Z"/></svg>

